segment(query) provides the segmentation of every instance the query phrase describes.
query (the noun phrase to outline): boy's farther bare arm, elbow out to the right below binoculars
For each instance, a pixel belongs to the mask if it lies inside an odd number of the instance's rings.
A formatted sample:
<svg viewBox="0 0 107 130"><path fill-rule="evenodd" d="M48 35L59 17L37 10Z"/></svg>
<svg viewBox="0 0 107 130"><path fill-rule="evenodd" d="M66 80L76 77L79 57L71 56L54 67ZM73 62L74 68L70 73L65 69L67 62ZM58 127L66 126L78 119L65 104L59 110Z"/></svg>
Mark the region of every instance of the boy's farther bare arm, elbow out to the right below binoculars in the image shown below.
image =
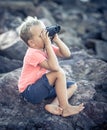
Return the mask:
<svg viewBox="0 0 107 130"><path fill-rule="evenodd" d="M56 52L57 56L69 58L71 56L71 52L66 44L58 37L56 34L53 41L59 47L59 51Z"/></svg>

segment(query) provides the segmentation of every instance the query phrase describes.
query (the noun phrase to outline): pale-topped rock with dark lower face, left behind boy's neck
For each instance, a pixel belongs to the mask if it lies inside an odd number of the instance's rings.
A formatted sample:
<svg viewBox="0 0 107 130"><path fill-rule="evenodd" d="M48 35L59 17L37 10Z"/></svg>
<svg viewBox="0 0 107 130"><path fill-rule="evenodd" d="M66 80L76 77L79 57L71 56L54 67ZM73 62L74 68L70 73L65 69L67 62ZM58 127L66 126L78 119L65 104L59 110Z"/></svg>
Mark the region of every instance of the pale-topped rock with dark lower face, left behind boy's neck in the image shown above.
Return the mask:
<svg viewBox="0 0 107 130"><path fill-rule="evenodd" d="M5 56L9 59L23 60L27 46L20 40L15 31L9 31L2 34L0 36L0 44L1 56Z"/></svg>

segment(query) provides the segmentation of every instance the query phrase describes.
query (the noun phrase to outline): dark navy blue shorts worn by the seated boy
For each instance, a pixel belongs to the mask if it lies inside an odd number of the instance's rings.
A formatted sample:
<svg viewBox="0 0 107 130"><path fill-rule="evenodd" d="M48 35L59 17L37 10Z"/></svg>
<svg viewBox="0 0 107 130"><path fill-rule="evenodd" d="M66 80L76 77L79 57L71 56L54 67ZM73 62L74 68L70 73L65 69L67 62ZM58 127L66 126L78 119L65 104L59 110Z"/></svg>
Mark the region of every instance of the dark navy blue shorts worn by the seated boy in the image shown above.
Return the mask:
<svg viewBox="0 0 107 130"><path fill-rule="evenodd" d="M73 81L67 81L67 88L75 84ZM56 97L55 87L50 85L46 74L44 74L34 84L29 85L21 96L32 104L41 103L42 100Z"/></svg>

